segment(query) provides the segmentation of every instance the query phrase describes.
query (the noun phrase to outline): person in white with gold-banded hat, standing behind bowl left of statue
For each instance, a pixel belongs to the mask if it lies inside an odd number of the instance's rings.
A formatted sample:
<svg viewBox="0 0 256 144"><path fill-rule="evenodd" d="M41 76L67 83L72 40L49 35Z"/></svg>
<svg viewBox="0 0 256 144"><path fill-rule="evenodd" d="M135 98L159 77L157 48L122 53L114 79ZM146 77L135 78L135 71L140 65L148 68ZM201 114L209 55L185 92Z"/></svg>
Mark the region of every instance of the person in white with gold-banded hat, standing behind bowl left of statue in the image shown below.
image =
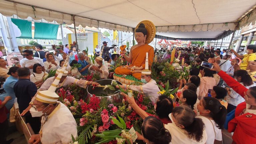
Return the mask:
<svg viewBox="0 0 256 144"><path fill-rule="evenodd" d="M99 72L100 78L107 79L108 74L109 74L108 68L106 66L102 65L102 61L103 61L103 59L101 57L97 57L95 60L96 64L90 66L89 70L93 73Z"/></svg>

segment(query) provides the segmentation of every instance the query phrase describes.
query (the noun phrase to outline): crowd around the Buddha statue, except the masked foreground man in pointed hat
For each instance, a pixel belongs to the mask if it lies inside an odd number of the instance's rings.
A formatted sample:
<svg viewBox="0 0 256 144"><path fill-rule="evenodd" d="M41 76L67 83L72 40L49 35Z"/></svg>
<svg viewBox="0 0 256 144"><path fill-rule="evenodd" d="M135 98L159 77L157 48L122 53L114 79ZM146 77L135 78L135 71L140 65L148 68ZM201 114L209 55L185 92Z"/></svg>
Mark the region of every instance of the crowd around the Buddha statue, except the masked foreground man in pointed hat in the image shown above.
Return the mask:
<svg viewBox="0 0 256 144"><path fill-rule="evenodd" d="M109 54L109 49L114 49L112 55ZM63 75L59 79L58 87L71 83L83 88L87 85L99 85L97 82L72 77L87 75L90 72L98 73L101 79L108 78L109 69L115 66L119 54L116 53L116 48L107 47L107 42L103 42L102 50L103 54L100 48L95 49L95 64L90 61L87 51L79 53L75 46L69 49L69 45L66 45L63 51L54 51L54 54L43 51L42 46L38 45L34 56L33 51L25 50L24 59L19 61L12 57L10 66L0 58L0 76L6 78L3 85L6 96L0 99L0 129L5 129L0 133L1 143L12 142L6 140L7 113L15 98L21 116L30 123L35 133L40 134L42 115L38 115L36 111L50 115L59 104L40 101L37 94L39 91L47 90L59 73ZM165 60L171 55L171 51L161 49L155 51L155 56ZM177 98L180 106L174 106L175 101L166 95L159 96L157 92L160 90L151 74L140 74L140 79L144 83L142 86L119 85L124 89L144 92L155 103L156 115L149 114L136 104L133 97L121 93L136 113L144 119L142 135L137 132L138 139L148 144L218 144L223 140L222 129L226 122L228 131L233 132L233 144L256 143L256 45L247 46L245 55L239 55L234 50L224 49L221 52L220 49L215 50L212 47L176 48L176 53L181 55L181 58L176 57L172 65L180 71L185 67L190 74L188 80L179 81L178 92L181 95ZM67 55L68 63L65 61ZM179 58L185 59L184 66L180 66ZM214 67L203 67L202 62L209 62ZM81 66L78 67L78 64ZM61 71L63 66L67 67L64 72ZM54 70L55 76L46 79L48 73ZM60 104L59 107L63 105ZM31 110L33 108L36 111ZM229 114L233 114L233 117L228 120ZM76 128L76 124L73 123L72 126ZM72 134L73 132L77 131L73 130ZM60 139L61 137L65 136L61 135ZM38 139L40 140L40 136L35 135L29 142L34 143Z"/></svg>

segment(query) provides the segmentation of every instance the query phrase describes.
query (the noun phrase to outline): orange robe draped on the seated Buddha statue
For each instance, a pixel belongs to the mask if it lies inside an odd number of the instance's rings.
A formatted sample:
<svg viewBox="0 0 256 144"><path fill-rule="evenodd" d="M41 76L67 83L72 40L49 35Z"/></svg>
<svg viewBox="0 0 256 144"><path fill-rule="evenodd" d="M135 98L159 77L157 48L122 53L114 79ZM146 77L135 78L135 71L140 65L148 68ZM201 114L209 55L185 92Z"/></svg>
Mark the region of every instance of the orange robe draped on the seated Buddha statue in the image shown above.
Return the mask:
<svg viewBox="0 0 256 144"><path fill-rule="evenodd" d="M129 67L143 67L142 70L145 70L145 61L146 61L146 53L148 52L148 67L151 69L151 65L153 63L154 59L154 48L149 46L148 44L139 46L132 50L132 63L129 65ZM135 78L141 79L141 73L133 73L130 72L129 69L123 68L123 66L116 68L115 70L116 74L126 74L130 75L132 74Z"/></svg>

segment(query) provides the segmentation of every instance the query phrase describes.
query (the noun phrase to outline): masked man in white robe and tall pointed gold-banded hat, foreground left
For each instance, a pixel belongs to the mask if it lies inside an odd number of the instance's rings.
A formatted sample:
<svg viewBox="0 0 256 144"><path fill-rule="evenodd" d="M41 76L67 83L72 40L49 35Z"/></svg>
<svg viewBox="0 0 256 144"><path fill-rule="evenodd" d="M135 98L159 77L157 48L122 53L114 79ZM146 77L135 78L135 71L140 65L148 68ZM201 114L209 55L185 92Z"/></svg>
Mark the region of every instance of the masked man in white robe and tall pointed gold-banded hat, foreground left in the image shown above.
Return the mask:
<svg viewBox="0 0 256 144"><path fill-rule="evenodd" d="M77 138L77 124L70 110L61 102L57 102L59 95L55 93L57 84L62 78L68 60L59 72L48 90L39 91L34 102L31 103L30 113L32 117L41 117L41 129L39 134L30 137L29 143L43 144L68 144L72 141L72 135Z"/></svg>

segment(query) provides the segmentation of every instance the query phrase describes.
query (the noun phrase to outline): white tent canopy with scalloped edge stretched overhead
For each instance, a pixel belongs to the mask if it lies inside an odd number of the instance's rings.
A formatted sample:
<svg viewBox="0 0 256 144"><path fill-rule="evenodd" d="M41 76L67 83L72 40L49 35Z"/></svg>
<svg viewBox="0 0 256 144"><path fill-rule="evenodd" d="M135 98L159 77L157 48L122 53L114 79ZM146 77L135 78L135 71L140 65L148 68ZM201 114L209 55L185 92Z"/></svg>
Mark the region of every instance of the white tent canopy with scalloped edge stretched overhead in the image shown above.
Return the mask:
<svg viewBox="0 0 256 144"><path fill-rule="evenodd" d="M129 32L142 20L152 21L157 32L213 32L233 31L238 21L254 24L255 5L255 0L0 0L0 13L69 25L75 15L76 26Z"/></svg>

